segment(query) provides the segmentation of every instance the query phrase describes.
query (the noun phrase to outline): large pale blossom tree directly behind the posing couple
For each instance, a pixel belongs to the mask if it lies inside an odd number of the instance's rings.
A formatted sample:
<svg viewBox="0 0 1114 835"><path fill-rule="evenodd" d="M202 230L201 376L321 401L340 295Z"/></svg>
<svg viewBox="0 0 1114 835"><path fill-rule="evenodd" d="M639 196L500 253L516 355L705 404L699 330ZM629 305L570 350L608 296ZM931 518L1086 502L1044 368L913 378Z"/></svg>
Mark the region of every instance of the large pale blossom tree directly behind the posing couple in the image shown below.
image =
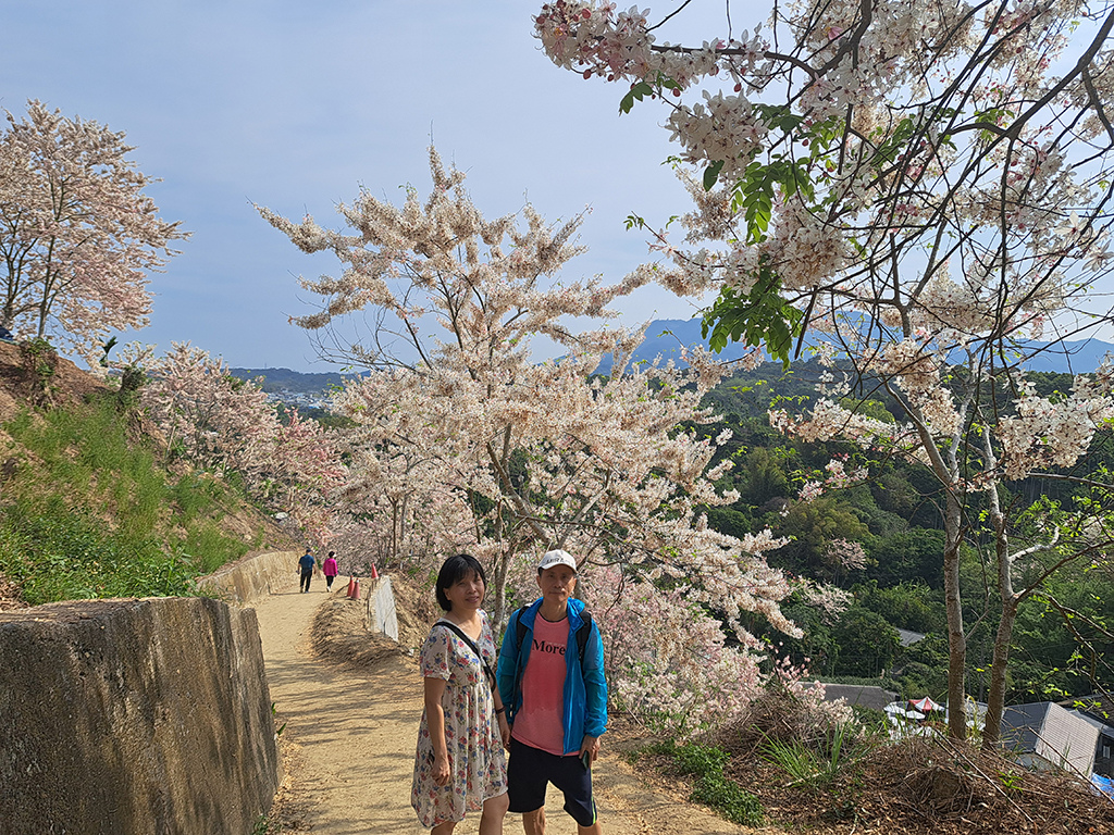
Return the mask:
<svg viewBox="0 0 1114 835"><path fill-rule="evenodd" d="M717 364L694 352L685 372L632 366L641 331L567 324L614 316L607 305L651 281L653 269L613 285L558 279L579 252L579 218L554 227L527 206L525 225L514 216L489 222L463 190L463 175L446 170L432 149L430 169L424 200L411 189L401 207L367 193L342 205L349 230L260 209L300 248L331 252L343 265L339 277L302 279L322 307L296 321L324 334L330 351L373 370L335 403L377 458L365 472L385 473L408 450L407 468L420 464L423 478L468 497L469 547L491 566L497 626L508 589L531 598L529 566L560 547L582 561L586 589L609 583L614 569L721 612L741 635L743 611L795 632L778 606L789 582L763 557L780 542L769 531L735 539L707 525L703 509L735 498L714 487L730 462L710 469L726 438L678 429L713 418L700 402L720 379ZM345 345L333 325L358 311L373 313L374 331ZM539 336L564 355L535 361ZM605 353L610 373L594 375ZM369 491L392 489L391 477L375 481L368 479ZM671 655L662 664L671 658L680 662Z"/></svg>

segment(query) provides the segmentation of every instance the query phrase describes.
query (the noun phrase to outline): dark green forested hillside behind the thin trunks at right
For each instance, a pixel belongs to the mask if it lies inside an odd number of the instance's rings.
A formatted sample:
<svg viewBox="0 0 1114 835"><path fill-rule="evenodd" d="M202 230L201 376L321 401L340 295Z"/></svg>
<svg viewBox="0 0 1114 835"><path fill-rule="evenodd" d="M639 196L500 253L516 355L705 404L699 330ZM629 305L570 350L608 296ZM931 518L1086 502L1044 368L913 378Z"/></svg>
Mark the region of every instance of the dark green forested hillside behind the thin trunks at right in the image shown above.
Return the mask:
<svg viewBox="0 0 1114 835"><path fill-rule="evenodd" d="M909 696L926 692L942 698L947 687L947 632L941 561L942 490L925 468L896 456L834 442L799 443L770 425L771 407L804 410L817 397L823 374L818 363L783 371L768 363L724 381L706 402L723 416L702 426L715 436L731 430L721 449L735 468L722 480L739 491L737 502L709 509L717 530L742 536L769 525L790 541L770 553L772 566L794 574L832 583L853 600L838 617L803 600L788 603L786 615L805 629L800 640L766 632L782 641L799 661L810 659L825 680L880 678ZM1066 392L1067 374L1035 373L1039 393ZM885 397L868 400L872 416L895 421ZM824 480L827 462L846 456L847 469L866 466L869 478L801 501L808 482ZM1068 474L1082 478L1104 473L1114 463L1114 439L1100 433L1089 453ZM1006 501L1028 508L1034 525L1059 509L1097 501L1085 484L1051 478L1029 478L1010 485ZM974 508L967 524L970 546L962 552L962 593L971 669L969 692L985 697L998 601L994 590L993 533L981 511ZM1098 554L1096 554L1096 558ZM1034 559L1027 573L1042 570ZM1024 601L1014 636L1014 666L1009 703L1059 699L1114 686L1114 674L1103 662L1114 651L1110 633L1114 620L1114 573L1105 560L1085 560L1053 573L1043 593ZM761 631L760 623L753 623ZM898 630L922 633L906 636ZM915 640L915 642L909 642Z"/></svg>

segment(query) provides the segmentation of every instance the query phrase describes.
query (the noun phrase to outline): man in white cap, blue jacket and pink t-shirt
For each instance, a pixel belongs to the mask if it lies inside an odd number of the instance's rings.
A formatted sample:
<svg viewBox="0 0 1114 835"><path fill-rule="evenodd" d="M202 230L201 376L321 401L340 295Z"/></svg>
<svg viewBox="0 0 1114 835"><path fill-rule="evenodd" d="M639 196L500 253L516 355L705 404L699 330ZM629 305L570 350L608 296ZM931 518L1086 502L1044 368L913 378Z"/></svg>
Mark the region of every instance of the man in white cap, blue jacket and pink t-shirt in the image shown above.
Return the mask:
<svg viewBox="0 0 1114 835"><path fill-rule="evenodd" d="M526 835L545 835L546 787L565 794L579 835L603 829L592 798L592 764L607 728L607 682L599 628L573 598L576 560L547 551L538 562L541 598L510 616L499 655L499 695L510 723L510 811Z"/></svg>

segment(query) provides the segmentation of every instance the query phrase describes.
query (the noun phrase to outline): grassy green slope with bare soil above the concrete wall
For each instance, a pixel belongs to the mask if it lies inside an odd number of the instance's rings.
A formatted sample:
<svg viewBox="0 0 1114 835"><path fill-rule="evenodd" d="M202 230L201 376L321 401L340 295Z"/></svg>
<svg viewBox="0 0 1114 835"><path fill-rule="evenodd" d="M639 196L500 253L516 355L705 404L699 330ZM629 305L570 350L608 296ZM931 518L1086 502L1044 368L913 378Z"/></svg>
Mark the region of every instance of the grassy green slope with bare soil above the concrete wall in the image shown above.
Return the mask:
<svg viewBox="0 0 1114 835"><path fill-rule="evenodd" d="M170 459L117 387L0 344L0 606L190 593L291 544L234 480Z"/></svg>

